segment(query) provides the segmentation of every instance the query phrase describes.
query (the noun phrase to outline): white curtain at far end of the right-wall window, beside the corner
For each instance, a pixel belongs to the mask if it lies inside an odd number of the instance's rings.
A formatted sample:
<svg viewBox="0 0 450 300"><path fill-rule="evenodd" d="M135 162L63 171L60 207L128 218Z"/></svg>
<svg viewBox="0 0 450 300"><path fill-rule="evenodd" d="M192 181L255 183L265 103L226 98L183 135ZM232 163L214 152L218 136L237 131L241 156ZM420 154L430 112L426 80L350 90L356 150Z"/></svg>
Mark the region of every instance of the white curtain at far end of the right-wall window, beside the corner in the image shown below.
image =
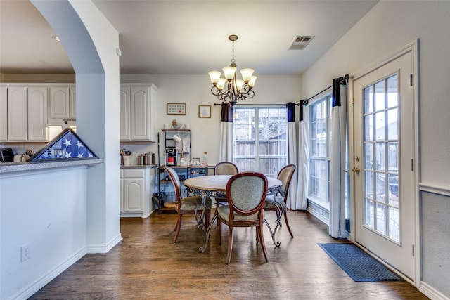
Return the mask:
<svg viewBox="0 0 450 300"><path fill-rule="evenodd" d="M295 209L307 209L309 186L309 107L300 103L299 143L297 165L297 201Z"/></svg>

